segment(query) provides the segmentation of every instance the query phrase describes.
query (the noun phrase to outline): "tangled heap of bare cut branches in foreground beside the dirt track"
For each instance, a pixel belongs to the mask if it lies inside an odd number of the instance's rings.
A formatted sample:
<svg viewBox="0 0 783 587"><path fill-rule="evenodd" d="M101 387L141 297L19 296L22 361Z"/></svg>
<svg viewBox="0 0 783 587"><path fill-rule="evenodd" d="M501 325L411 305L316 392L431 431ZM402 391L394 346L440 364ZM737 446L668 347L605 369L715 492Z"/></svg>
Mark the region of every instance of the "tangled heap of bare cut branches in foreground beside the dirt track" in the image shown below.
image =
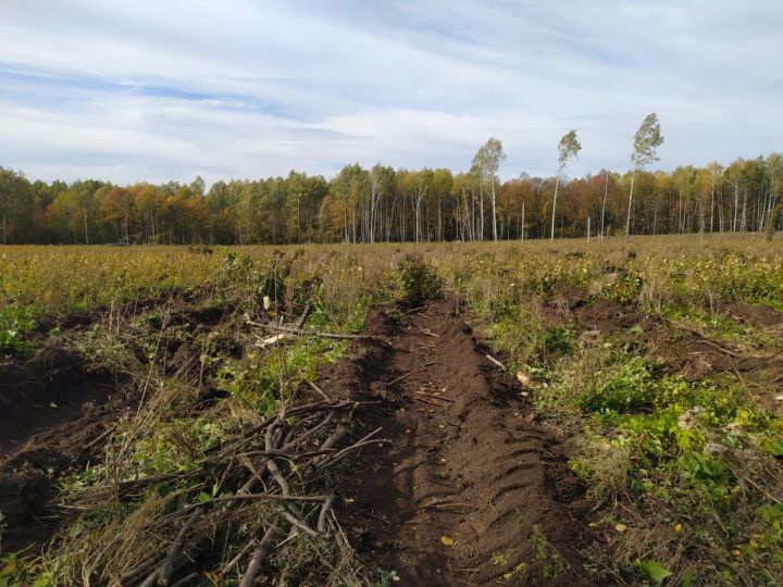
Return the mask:
<svg viewBox="0 0 783 587"><path fill-rule="evenodd" d="M244 545L235 545L236 554L223 564L220 576L244 569L239 585L252 585L268 558L299 535L332 539L340 549L350 551L332 509L334 494L313 494L312 487L322 486L320 482L327 470L347 455L370 444L388 440L377 438L381 433L377 428L359 440L346 442L350 435L340 425L340 413L356 408L358 402L335 402L323 395L322 401L281 407L243 438L208 449L204 467L222 469L224 479L241 479L238 473L244 472L239 489L232 495L182 503L171 514L178 521L179 529L167 549L126 572L122 585L194 584L201 571L191 569L203 569L199 560L214 550L213 540L203 529L235 535L231 532L232 522L237 514L244 517L240 510L252 502L275 504L274 514Z"/></svg>

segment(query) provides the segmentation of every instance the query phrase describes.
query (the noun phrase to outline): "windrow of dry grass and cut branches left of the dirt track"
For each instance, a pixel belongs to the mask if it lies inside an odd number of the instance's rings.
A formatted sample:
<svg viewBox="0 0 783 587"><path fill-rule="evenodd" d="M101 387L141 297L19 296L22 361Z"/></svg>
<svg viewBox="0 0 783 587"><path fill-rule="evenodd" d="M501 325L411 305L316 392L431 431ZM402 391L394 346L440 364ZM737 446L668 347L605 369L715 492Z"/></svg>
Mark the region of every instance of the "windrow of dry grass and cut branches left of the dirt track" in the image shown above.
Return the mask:
<svg viewBox="0 0 783 587"><path fill-rule="evenodd" d="M311 308L308 302L285 325L281 313L254 313L253 321L233 304L216 324L202 325L196 316L212 307L167 302L150 312L162 314L159 326L110 315L100 337L79 339L100 350L94 354L102 365L127 374L128 392L120 400L124 414L85 447L87 470L74 471L52 503L70 525L36 564L54 569L63 584L150 587L225 578L248 586L272 577L300 583L302 575L365 583L355 580L363 571L333 511L335 469L362 447L386 442L381 429L349 432L361 402L330 398L312 383L313 391L302 394L300 383L287 385L268 414L220 396L216 385L229 352L224 339L271 353L304 336L364 338L304 329ZM196 326L171 326L178 323ZM220 351L204 350L210 345ZM214 360L201 360L208 352Z"/></svg>

